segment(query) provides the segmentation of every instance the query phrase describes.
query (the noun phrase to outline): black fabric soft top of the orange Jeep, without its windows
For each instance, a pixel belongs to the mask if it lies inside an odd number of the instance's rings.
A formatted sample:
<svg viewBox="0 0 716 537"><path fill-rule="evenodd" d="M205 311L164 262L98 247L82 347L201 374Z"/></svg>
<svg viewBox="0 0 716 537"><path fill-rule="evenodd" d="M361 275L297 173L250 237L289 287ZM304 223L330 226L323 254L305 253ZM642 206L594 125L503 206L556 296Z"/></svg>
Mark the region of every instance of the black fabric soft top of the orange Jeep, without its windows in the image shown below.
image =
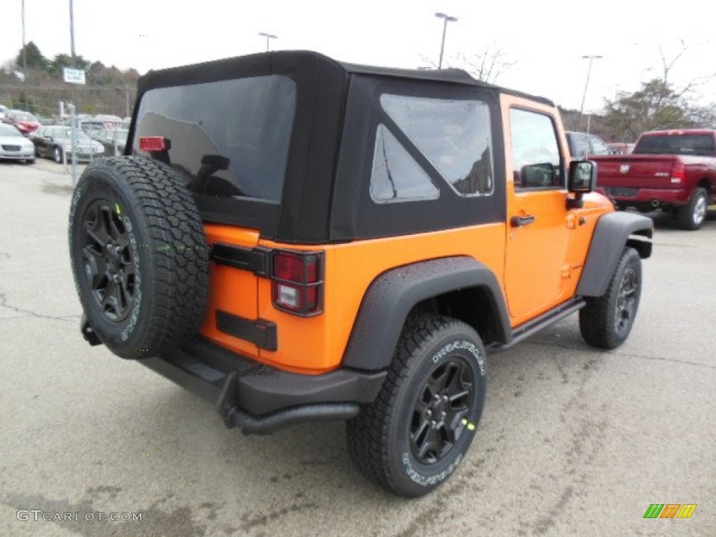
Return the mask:
<svg viewBox="0 0 716 537"><path fill-rule="evenodd" d="M204 221L258 228L262 237L287 243L350 241L504 220L502 181L495 185L492 197L445 195L438 204L424 202L432 220L416 218L421 214L415 211L417 205L378 206L366 200L367 185L363 183L369 179L372 164L374 123L384 115L375 105L378 92L392 88L409 95L448 99L475 92L482 95L495 118L497 177L504 174L499 95L508 93L552 105L541 97L480 82L460 69L392 69L337 62L316 52L263 52L145 74L138 83L129 134L133 143L128 144L127 154L132 152L130 147L135 151L138 147L136 122L146 92L266 75L289 77L296 85L296 114L281 202L208 195L195 195L195 199Z"/></svg>

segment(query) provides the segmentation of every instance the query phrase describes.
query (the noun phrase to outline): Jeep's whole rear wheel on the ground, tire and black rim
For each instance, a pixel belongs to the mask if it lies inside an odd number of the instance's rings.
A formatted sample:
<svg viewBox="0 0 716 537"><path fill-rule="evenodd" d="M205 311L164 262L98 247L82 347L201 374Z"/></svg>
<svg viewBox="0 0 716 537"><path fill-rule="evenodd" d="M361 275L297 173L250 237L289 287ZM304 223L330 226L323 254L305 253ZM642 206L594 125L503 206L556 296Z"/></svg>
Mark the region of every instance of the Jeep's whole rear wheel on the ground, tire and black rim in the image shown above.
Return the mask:
<svg viewBox="0 0 716 537"><path fill-rule="evenodd" d="M367 478L404 496L445 483L485 404L485 349L457 319L410 316L377 399L349 420L349 453Z"/></svg>

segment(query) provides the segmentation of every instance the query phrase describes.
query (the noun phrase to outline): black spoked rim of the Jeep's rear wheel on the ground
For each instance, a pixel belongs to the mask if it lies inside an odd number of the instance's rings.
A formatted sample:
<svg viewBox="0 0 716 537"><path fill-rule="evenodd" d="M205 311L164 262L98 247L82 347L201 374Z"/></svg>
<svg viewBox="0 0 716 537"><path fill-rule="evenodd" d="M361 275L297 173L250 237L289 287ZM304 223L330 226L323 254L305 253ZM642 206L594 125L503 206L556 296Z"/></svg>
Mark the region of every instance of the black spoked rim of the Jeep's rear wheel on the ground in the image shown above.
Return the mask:
<svg viewBox="0 0 716 537"><path fill-rule="evenodd" d="M419 463L443 460L453 449L473 404L473 370L455 356L430 374L412 413L410 448Z"/></svg>

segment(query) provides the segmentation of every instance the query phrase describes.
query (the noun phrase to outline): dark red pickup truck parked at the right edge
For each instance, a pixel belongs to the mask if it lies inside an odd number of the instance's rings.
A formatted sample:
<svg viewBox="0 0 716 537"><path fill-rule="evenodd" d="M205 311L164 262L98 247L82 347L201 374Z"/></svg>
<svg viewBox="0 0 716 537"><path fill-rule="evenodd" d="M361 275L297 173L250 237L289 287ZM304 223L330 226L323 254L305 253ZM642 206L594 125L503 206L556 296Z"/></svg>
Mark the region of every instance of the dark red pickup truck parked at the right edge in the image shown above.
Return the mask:
<svg viewBox="0 0 716 537"><path fill-rule="evenodd" d="M674 213L695 230L716 203L716 130L644 132L631 155L591 156L599 187L617 208Z"/></svg>

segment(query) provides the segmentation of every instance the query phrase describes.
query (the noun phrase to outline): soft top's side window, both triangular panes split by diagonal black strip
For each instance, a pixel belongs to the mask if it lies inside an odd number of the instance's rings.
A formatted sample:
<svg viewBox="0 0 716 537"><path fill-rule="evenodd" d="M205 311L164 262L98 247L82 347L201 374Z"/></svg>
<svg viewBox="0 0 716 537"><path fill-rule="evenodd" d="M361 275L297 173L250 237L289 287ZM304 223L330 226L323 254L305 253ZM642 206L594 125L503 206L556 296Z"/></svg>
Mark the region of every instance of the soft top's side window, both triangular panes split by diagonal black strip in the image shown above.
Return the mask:
<svg viewBox="0 0 716 537"><path fill-rule="evenodd" d="M488 105L384 94L380 104L414 149L461 197L490 195L495 188ZM409 144L409 145L410 145ZM371 195L377 203L430 200L440 190L386 125L374 147Z"/></svg>

